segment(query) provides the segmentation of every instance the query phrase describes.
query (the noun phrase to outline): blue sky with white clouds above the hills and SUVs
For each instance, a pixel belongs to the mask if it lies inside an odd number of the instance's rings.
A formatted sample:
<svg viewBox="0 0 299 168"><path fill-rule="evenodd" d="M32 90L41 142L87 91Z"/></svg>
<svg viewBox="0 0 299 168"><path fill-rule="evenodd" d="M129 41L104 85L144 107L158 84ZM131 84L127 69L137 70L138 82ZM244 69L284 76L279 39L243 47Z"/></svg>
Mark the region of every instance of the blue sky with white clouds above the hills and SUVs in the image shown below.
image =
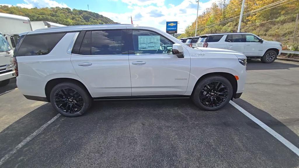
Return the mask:
<svg viewBox="0 0 299 168"><path fill-rule="evenodd" d="M200 0L199 14L217 0ZM166 21L178 21L178 33L196 19L196 0L0 0L0 5L69 7L99 13L122 24L149 26L166 31Z"/></svg>

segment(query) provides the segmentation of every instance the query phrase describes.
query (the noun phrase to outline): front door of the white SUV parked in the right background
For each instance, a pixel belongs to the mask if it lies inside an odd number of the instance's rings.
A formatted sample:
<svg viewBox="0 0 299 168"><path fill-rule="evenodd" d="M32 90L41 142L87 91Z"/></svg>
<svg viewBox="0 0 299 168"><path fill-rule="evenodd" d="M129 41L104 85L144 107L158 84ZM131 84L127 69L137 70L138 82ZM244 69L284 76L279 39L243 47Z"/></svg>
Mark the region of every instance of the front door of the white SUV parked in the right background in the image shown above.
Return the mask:
<svg viewBox="0 0 299 168"><path fill-rule="evenodd" d="M252 34L243 34L245 39L245 56L262 56L264 44Z"/></svg>

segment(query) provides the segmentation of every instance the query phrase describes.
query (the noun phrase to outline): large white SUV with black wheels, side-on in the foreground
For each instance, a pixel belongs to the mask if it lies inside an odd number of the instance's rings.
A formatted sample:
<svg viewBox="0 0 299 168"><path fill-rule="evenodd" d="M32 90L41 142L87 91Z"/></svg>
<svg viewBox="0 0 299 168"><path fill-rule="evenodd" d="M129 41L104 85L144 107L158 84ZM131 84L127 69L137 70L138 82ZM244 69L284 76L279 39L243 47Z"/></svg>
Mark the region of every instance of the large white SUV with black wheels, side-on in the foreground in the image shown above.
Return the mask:
<svg viewBox="0 0 299 168"><path fill-rule="evenodd" d="M26 98L75 117L93 99L191 97L216 110L241 96L247 62L238 52L190 48L155 28L117 24L23 33L13 63Z"/></svg>

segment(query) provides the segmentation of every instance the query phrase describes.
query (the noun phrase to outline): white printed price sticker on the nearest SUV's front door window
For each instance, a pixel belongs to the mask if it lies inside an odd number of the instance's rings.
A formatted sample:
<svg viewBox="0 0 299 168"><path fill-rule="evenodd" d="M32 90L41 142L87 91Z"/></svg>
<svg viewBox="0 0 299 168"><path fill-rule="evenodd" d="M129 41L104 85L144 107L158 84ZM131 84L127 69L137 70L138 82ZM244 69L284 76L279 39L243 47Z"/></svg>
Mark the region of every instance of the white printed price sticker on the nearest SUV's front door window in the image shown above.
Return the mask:
<svg viewBox="0 0 299 168"><path fill-rule="evenodd" d="M138 36L138 50L160 49L160 36Z"/></svg>

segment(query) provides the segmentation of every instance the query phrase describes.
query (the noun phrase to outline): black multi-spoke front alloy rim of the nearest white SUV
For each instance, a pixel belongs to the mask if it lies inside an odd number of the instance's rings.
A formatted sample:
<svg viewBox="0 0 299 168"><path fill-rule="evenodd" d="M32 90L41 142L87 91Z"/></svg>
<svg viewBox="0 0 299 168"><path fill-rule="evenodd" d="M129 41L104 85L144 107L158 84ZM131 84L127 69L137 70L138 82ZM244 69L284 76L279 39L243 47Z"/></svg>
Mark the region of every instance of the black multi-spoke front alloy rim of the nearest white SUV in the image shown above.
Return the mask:
<svg viewBox="0 0 299 168"><path fill-rule="evenodd" d="M220 106L227 97L228 89L220 81L213 81L204 85L199 94L200 102L206 107Z"/></svg>

